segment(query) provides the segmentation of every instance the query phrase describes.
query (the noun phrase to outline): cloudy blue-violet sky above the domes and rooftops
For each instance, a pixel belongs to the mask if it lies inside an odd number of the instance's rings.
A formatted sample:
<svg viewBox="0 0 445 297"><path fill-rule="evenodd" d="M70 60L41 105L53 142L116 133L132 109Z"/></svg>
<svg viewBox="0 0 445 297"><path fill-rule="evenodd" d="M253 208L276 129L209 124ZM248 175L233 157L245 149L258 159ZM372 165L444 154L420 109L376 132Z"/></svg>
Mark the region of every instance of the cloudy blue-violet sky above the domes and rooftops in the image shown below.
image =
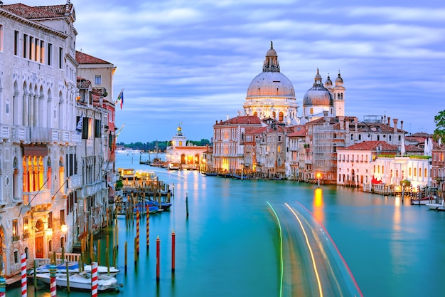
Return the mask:
<svg viewBox="0 0 445 297"><path fill-rule="evenodd" d="M5 4L16 3L5 1ZM65 0L21 0L29 6ZM211 140L243 114L273 41L298 116L317 68L344 81L345 115L434 132L445 110L445 1L72 0L77 51L117 67L117 142ZM392 120L391 120L392 122Z"/></svg>

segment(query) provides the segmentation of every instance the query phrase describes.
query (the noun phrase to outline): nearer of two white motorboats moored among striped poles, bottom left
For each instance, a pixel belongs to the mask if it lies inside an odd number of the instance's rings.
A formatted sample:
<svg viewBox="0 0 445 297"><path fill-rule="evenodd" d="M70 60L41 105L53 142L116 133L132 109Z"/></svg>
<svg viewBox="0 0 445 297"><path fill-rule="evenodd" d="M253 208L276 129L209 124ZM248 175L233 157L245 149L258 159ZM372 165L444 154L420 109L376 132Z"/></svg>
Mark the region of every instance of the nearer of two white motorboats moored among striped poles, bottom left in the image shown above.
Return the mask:
<svg viewBox="0 0 445 297"><path fill-rule="evenodd" d="M68 286L67 277L69 277L70 288L77 288L81 290L91 290L91 273L82 271L80 273L56 273L55 284L66 288ZM38 281L43 283L50 283L50 273L36 273ZM116 278L113 276L104 276L102 274L97 275L97 291L117 290L119 284Z"/></svg>

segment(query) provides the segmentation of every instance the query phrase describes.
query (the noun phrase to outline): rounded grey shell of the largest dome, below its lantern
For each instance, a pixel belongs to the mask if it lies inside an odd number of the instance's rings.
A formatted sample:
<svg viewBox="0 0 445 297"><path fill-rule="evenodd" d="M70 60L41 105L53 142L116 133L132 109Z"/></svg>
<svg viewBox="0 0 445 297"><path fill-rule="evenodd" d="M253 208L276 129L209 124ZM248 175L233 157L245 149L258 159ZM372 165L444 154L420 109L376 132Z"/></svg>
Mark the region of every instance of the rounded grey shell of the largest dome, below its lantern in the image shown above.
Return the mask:
<svg viewBox="0 0 445 297"><path fill-rule="evenodd" d="M262 72L255 76L247 89L247 98L284 97L295 98L294 85L281 72Z"/></svg>

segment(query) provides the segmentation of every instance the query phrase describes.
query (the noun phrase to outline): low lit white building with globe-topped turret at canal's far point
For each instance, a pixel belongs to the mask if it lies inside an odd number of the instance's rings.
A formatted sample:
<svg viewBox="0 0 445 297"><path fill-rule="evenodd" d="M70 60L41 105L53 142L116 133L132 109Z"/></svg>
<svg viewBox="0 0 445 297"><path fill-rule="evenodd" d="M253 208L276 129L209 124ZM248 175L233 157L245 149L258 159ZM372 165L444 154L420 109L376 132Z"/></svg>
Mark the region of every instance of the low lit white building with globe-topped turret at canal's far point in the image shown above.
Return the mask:
<svg viewBox="0 0 445 297"><path fill-rule="evenodd" d="M176 130L176 135L171 139L171 145L166 148L166 162L168 170L203 170L204 152L208 151L206 146L193 145L187 142L183 135L181 125Z"/></svg>

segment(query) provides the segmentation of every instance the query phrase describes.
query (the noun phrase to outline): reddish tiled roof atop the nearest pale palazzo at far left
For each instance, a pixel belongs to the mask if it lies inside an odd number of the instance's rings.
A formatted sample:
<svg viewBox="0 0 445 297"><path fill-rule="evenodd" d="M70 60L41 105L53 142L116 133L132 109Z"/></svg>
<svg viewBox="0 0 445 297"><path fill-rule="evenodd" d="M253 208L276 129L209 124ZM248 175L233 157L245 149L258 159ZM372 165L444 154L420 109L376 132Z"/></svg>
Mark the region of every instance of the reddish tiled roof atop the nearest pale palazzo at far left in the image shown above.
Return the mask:
<svg viewBox="0 0 445 297"><path fill-rule="evenodd" d="M73 4L27 6L18 3L3 5L2 8L25 19L55 19L70 13L73 9Z"/></svg>

